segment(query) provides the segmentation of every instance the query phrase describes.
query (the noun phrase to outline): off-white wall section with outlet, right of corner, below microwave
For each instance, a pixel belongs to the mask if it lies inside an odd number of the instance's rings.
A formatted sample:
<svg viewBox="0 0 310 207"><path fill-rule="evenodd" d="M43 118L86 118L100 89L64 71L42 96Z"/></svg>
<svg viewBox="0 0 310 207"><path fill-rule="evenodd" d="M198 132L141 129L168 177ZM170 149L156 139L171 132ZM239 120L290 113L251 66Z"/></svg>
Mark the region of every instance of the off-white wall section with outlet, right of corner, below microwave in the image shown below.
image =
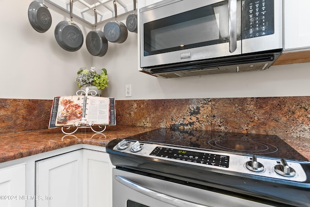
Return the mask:
<svg viewBox="0 0 310 207"><path fill-rule="evenodd" d="M113 48L110 44L112 49L106 56L93 60L96 67L108 69L109 88L105 96L122 100L310 96L310 63L271 66L265 71L162 79L138 71L134 47L137 42L134 38L127 41ZM125 97L125 84L132 85L132 97Z"/></svg>

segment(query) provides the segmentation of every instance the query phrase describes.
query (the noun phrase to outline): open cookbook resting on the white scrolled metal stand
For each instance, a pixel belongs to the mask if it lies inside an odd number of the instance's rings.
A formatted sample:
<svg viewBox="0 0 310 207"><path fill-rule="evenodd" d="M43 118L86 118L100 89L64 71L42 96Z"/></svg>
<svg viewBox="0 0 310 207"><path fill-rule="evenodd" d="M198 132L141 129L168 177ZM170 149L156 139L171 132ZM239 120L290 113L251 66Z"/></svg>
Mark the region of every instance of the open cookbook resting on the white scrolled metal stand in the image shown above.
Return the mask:
<svg viewBox="0 0 310 207"><path fill-rule="evenodd" d="M114 98L99 96L54 97L48 128L116 125Z"/></svg>

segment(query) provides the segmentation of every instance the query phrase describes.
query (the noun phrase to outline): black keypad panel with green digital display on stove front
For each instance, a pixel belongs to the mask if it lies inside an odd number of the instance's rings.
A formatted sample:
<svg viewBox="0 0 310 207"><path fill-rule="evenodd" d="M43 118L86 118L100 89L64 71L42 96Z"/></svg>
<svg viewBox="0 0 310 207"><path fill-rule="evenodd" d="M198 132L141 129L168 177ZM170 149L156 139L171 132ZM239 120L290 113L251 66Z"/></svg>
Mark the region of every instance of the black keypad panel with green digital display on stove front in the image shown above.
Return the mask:
<svg viewBox="0 0 310 207"><path fill-rule="evenodd" d="M151 156L183 160L218 167L229 167L229 156L211 153L194 152L183 149L172 149L167 147L155 147Z"/></svg>

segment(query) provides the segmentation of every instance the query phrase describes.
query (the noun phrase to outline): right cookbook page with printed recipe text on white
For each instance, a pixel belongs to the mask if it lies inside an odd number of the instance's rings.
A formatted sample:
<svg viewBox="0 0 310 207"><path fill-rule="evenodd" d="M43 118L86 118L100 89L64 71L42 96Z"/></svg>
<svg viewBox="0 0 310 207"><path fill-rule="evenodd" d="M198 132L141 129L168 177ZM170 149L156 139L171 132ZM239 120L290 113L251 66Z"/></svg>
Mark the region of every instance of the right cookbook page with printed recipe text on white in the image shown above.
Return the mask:
<svg viewBox="0 0 310 207"><path fill-rule="evenodd" d="M86 121L94 125L109 125L109 107L109 98L87 96Z"/></svg>

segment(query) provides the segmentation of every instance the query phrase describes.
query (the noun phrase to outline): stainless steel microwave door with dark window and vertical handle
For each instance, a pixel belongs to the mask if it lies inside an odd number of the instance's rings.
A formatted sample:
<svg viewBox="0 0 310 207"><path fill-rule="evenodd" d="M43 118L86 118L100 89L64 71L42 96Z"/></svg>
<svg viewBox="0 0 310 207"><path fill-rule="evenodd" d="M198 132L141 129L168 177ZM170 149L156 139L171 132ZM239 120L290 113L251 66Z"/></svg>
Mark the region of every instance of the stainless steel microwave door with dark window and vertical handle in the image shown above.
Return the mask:
<svg viewBox="0 0 310 207"><path fill-rule="evenodd" d="M168 2L140 10L140 67L241 54L241 0Z"/></svg>

